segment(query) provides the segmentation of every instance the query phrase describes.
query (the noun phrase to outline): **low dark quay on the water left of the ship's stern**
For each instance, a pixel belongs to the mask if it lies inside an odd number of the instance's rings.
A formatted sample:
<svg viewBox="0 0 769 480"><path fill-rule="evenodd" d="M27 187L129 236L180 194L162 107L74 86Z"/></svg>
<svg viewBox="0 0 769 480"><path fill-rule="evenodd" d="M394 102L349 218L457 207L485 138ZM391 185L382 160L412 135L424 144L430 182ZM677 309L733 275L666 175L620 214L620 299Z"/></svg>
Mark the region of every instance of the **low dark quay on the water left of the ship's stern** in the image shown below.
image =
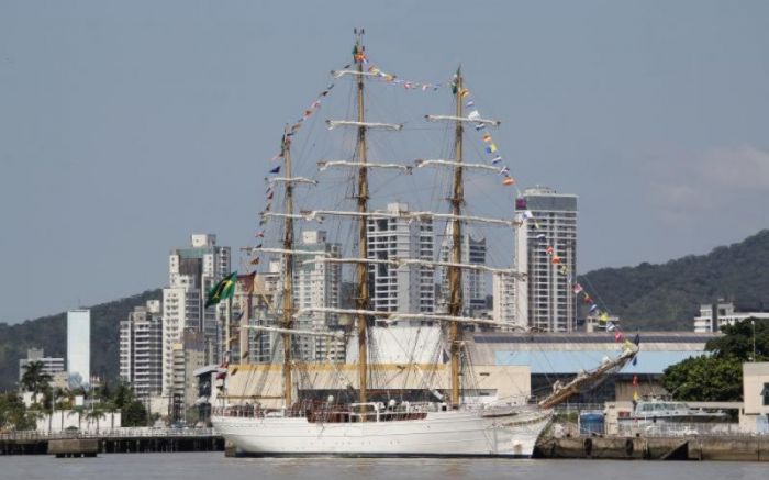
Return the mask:
<svg viewBox="0 0 769 480"><path fill-rule="evenodd" d="M115 428L100 433L0 434L0 455L59 455L66 445L67 456L79 456L78 449L89 453L94 443L101 454L224 451L224 438L212 428Z"/></svg>

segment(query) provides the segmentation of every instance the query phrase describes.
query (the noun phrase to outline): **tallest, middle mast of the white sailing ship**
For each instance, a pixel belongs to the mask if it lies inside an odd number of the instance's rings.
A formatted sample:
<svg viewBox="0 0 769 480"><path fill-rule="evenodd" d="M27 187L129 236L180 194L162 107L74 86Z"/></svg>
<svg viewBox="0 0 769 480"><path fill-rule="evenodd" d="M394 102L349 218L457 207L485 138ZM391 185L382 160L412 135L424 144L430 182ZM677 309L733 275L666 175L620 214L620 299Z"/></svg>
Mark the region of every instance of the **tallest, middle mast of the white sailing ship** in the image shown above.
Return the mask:
<svg viewBox="0 0 769 480"><path fill-rule="evenodd" d="M365 47L363 46L363 35L364 30L355 31L356 41L355 49L353 52L353 58L355 59L358 76L358 161L363 164L358 168L358 212L368 212L368 167L366 166L366 126L365 126L365 111L364 111L364 58L365 58ZM368 237L367 237L367 219L360 216L358 220L358 256L361 259L368 258ZM357 308L358 310L367 310L369 304L368 298L368 267L366 264L360 263L356 267L356 277L358 281L358 299ZM358 324L358 386L359 394L358 402L366 403L368 399L368 316L360 313L357 315ZM363 409L363 406L361 406Z"/></svg>

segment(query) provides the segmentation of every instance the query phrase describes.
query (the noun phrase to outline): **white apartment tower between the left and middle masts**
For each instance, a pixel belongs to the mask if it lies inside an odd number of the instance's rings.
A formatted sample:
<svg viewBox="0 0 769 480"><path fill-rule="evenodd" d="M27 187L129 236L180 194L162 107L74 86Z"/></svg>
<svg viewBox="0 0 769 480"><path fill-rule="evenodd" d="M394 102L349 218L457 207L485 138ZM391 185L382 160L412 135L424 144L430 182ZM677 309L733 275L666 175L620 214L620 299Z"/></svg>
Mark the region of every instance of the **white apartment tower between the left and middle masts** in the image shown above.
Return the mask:
<svg viewBox="0 0 769 480"><path fill-rule="evenodd" d="M339 306L342 289L342 265L330 263L305 263L310 259L339 257L339 244L328 243L322 231L302 232L299 249L317 252L317 255L297 255L293 268L293 300L298 310L317 306ZM313 313L299 319L302 330L328 331L338 327L338 315ZM300 336L297 342L299 356L305 360L344 361L344 341L321 336Z"/></svg>

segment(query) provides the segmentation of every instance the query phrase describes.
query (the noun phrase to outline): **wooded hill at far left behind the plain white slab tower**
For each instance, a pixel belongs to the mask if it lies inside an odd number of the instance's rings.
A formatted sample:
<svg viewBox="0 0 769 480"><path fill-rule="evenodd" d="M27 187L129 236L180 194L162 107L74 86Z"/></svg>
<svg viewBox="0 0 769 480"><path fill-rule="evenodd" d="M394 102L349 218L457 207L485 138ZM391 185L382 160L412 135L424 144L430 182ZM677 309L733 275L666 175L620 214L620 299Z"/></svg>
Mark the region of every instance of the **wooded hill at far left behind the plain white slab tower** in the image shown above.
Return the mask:
<svg viewBox="0 0 769 480"><path fill-rule="evenodd" d="M148 290L137 295L91 306L91 375L116 379L119 375L120 322L126 320L136 305L160 299L161 290ZM8 325L0 323L0 391L15 387L19 359L26 349L42 347L48 357L67 356L67 314L58 313Z"/></svg>

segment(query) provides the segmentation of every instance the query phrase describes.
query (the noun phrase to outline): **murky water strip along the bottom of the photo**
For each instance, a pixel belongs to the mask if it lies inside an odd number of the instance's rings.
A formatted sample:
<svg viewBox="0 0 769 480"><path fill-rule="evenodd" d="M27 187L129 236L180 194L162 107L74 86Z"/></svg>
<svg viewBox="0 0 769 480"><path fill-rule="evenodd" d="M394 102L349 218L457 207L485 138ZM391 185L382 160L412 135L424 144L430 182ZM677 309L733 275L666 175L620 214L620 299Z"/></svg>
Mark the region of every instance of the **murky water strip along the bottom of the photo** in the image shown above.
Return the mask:
<svg viewBox="0 0 769 480"><path fill-rule="evenodd" d="M2 480L393 480L393 479L761 479L766 462L643 460L225 458L203 454L101 454L97 458L0 457Z"/></svg>

